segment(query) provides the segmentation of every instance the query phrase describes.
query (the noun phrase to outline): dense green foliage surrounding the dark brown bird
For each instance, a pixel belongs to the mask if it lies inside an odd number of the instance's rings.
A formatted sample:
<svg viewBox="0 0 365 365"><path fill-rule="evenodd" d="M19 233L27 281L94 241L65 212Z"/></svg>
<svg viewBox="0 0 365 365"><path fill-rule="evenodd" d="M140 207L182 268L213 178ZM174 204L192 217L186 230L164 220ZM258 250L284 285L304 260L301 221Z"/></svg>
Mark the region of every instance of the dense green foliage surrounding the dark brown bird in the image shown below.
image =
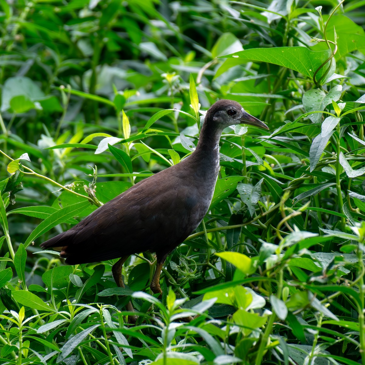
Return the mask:
<svg viewBox="0 0 365 365"><path fill-rule="evenodd" d="M0 363L365 364L361 5L0 0ZM270 131L224 132L162 298L151 253L122 289L39 250L190 154L218 99Z"/></svg>

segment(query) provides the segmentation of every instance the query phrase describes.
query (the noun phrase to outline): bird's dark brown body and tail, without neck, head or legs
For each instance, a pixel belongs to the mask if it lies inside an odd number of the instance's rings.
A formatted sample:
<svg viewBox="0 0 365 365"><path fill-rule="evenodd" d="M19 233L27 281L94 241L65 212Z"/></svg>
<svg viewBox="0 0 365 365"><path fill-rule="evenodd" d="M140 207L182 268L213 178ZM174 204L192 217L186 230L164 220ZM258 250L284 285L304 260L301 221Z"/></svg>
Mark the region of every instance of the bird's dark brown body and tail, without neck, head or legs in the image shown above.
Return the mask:
<svg viewBox="0 0 365 365"><path fill-rule="evenodd" d="M214 190L215 179L202 187L204 177L188 160L135 184L41 247L57 247L68 264L147 250L166 256L199 225Z"/></svg>

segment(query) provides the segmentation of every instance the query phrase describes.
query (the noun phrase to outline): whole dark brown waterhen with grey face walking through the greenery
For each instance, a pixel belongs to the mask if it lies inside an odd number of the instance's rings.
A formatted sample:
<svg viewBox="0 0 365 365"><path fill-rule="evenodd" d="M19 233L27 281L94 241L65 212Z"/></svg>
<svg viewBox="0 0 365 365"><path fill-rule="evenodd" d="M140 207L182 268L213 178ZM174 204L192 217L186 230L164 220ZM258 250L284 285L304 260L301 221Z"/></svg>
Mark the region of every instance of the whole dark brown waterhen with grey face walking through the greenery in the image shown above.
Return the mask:
<svg viewBox="0 0 365 365"><path fill-rule="evenodd" d="M196 150L189 157L135 184L41 247L61 251L70 265L120 257L112 268L119 287L124 287L122 266L131 254L155 252L150 288L161 293L160 273L167 255L208 211L219 172L222 131L241 123L269 129L236 101L217 101L207 111Z"/></svg>

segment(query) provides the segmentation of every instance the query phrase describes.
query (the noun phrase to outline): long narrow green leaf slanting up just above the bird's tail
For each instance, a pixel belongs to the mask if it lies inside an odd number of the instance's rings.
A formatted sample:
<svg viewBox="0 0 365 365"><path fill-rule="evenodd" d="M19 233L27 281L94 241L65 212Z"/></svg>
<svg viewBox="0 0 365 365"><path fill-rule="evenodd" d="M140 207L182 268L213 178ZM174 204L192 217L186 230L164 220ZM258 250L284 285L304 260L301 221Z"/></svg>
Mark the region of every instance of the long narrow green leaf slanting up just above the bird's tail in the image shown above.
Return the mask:
<svg viewBox="0 0 365 365"><path fill-rule="evenodd" d="M80 215L82 211L89 207L89 205L90 202L88 200L81 201L80 203L69 205L68 207L61 208L57 212L54 212L35 228L24 243L24 247L28 247L34 239L57 226L57 224L64 223L69 218Z"/></svg>

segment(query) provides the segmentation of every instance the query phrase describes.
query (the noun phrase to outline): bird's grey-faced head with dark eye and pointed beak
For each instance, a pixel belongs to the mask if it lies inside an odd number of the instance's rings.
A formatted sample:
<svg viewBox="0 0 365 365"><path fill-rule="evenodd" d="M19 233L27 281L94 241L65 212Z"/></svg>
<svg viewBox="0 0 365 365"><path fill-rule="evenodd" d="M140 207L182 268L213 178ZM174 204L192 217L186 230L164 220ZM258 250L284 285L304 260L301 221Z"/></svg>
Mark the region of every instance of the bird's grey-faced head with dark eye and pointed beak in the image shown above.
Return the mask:
<svg viewBox="0 0 365 365"><path fill-rule="evenodd" d="M218 100L207 111L205 122L214 123L219 129L224 129L234 124L250 124L251 126L269 129L261 120L248 114L237 101Z"/></svg>

